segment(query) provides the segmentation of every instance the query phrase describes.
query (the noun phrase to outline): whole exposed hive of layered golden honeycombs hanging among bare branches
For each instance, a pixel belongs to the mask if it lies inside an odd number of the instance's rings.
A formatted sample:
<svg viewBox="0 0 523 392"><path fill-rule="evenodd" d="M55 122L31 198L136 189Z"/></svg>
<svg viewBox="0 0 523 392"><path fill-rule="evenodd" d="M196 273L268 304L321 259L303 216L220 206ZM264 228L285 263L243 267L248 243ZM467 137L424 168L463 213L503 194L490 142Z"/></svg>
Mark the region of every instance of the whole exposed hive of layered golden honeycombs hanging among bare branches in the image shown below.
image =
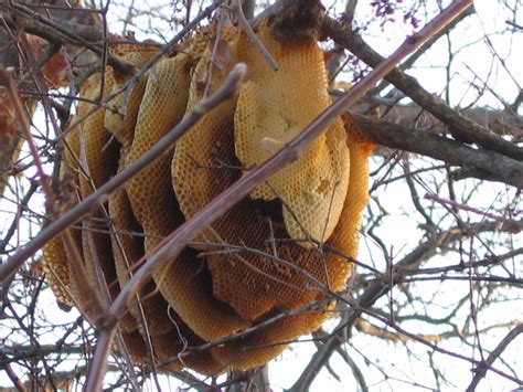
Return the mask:
<svg viewBox="0 0 523 392"><path fill-rule="evenodd" d="M63 210L147 152L212 95L237 62L248 66L238 97L205 114L173 148L71 230L89 285L106 290L109 300L167 235L330 105L316 42L282 44L267 21L257 34L278 72L239 29L213 24L104 105L98 98L120 91L129 75L107 67L104 77L94 74L82 86L85 99L77 116L94 113L65 138L61 178L74 187ZM136 70L154 50L138 43L110 46L113 55ZM154 271L119 324L131 360L150 363L147 340L160 371L185 368L216 375L262 365L287 342L318 329L334 310L328 290L346 289L352 273L372 150L345 116ZM43 250L44 267L54 272L47 274L50 286L60 300L73 301L96 320L92 298L71 267L74 250L66 245L56 237ZM241 337L192 350L232 333Z"/></svg>

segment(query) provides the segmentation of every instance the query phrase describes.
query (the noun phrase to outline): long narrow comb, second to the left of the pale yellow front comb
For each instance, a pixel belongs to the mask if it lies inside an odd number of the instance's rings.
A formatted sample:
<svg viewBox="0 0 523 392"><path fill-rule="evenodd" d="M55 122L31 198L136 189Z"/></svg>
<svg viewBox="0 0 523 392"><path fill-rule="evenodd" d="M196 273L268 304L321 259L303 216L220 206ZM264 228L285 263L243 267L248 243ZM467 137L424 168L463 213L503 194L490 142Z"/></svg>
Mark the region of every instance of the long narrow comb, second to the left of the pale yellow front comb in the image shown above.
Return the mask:
<svg viewBox="0 0 523 392"><path fill-rule="evenodd" d="M136 120L135 136L127 165L148 151L183 116L189 92L190 56L180 53L157 64L149 74ZM141 170L127 184L126 191L132 212L148 234L146 252L182 221L170 183L172 150ZM174 213L173 213L174 212Z"/></svg>

